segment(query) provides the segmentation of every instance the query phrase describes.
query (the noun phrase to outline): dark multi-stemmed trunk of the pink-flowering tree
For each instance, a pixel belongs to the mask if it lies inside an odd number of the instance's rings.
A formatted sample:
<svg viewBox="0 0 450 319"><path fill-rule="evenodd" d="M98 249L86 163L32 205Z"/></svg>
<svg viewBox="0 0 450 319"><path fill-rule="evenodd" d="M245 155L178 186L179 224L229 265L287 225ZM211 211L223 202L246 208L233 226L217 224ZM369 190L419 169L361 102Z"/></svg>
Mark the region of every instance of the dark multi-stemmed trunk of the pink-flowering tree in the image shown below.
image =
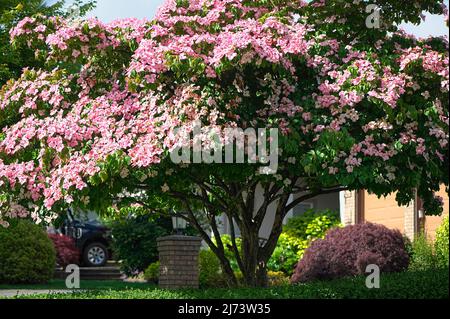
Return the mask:
<svg viewBox="0 0 450 319"><path fill-rule="evenodd" d="M297 180L298 178L293 179L293 185L296 185ZM242 272L242 283L250 287L264 287L268 284L267 264L277 246L278 239L283 230L283 220L286 217L287 212L301 202L318 195L347 190L347 187L336 186L317 190L315 192L308 192L306 188L300 189L300 187L297 187L296 193L301 194L301 196L289 201L290 195L292 194L291 190L288 191L277 185L266 184L262 187L262 204L259 203L258 205L255 205L255 194L257 191L256 183L247 187L249 191L246 196L243 196L242 191L237 191L239 187L236 187L236 185L228 187L225 183L222 184L224 185L223 189L226 190L229 198L226 199L225 197L220 197L220 194L215 194L220 199L219 206L217 207L214 206L217 203L211 202L208 196L208 192L211 191L210 187L199 184L200 188L203 186L202 201L206 207L206 215L208 216L216 243L214 243L210 234L204 230L203 226L201 226L200 222L195 217L189 202L185 198L182 198L182 201L189 212L188 221L199 231L211 250L219 258L223 273L226 276L229 285L233 286L238 284L238 280L231 267L231 262L225 254L226 250L231 250L234 253L236 262ZM270 209L274 209L272 230L268 238L262 239L260 238L260 229ZM216 220L218 211L223 212L228 218L232 242L232 245L229 247L225 247L221 240L221 233ZM239 227L241 233L241 247L238 247L237 245L235 223Z"/></svg>

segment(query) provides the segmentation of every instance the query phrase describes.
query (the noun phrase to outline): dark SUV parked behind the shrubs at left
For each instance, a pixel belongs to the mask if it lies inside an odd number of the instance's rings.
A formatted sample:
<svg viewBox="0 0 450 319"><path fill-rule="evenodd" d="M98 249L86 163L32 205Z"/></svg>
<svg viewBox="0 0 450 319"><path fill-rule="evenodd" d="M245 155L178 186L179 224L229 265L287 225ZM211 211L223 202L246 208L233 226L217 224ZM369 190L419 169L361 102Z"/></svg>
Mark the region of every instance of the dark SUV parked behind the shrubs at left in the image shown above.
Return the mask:
<svg viewBox="0 0 450 319"><path fill-rule="evenodd" d="M84 221L69 210L60 231L75 240L84 266L102 267L111 256L111 232L99 221Z"/></svg>

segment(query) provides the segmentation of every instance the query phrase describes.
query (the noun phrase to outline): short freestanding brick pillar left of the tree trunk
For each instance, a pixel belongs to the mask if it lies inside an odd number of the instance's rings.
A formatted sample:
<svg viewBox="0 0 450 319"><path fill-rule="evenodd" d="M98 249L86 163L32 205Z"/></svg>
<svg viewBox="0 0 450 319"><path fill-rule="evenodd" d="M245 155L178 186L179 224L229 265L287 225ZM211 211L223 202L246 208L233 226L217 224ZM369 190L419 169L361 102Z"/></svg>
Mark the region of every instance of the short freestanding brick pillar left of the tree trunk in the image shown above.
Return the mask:
<svg viewBox="0 0 450 319"><path fill-rule="evenodd" d="M201 238L168 236L158 238L159 286L165 289L198 288L198 256Z"/></svg>

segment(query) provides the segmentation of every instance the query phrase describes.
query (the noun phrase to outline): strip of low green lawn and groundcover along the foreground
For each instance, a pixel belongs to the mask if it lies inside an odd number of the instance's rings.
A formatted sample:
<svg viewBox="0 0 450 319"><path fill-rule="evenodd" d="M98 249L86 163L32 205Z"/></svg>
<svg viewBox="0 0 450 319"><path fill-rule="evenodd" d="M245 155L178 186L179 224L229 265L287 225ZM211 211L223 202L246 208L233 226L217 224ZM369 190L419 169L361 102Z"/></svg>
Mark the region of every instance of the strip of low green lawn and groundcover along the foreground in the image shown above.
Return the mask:
<svg viewBox="0 0 450 319"><path fill-rule="evenodd" d="M34 295L21 298L38 299L448 299L449 270L430 270L385 274L380 289L368 289L365 277L345 278L308 284L280 286L266 289L199 289L171 291L142 283L84 281L87 291L68 295ZM5 288L60 289L62 281L39 286L0 286Z"/></svg>

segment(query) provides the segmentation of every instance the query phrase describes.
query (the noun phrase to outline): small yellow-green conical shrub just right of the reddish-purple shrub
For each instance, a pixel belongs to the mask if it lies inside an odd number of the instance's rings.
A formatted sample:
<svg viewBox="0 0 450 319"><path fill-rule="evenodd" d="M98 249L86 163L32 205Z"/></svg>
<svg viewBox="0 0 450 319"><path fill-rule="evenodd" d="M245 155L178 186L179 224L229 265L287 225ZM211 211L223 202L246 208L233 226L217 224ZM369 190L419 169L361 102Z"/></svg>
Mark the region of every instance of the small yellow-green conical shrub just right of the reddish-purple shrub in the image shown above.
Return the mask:
<svg viewBox="0 0 450 319"><path fill-rule="evenodd" d="M412 242L410 270L430 270L437 266L433 244L425 234L419 234Z"/></svg>

